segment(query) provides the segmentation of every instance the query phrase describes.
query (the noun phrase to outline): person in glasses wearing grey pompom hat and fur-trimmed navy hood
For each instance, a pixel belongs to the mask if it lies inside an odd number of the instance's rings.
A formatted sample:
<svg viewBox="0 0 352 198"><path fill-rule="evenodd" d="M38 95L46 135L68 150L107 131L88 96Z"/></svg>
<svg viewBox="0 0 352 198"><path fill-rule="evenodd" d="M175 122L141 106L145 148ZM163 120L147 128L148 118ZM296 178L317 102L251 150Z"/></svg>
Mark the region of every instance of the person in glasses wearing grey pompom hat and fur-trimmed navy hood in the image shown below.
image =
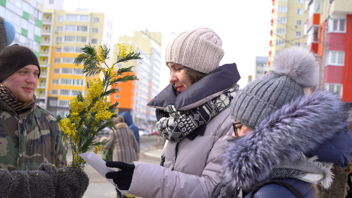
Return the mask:
<svg viewBox="0 0 352 198"><path fill-rule="evenodd" d="M352 105L334 93L304 89L317 83L314 55L302 47L276 55L269 74L240 89L224 148L224 179L214 198L315 198L312 183L328 188L333 164L352 159Z"/></svg>

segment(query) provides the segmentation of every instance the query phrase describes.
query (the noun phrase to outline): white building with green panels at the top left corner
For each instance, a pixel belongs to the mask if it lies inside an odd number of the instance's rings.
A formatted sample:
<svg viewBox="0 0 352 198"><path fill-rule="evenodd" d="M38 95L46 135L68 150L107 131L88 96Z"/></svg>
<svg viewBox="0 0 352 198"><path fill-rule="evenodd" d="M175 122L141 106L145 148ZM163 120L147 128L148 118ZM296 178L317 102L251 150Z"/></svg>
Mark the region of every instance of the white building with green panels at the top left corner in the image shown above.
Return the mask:
<svg viewBox="0 0 352 198"><path fill-rule="evenodd" d="M0 17L11 22L16 34L12 44L33 50L39 58L43 24L43 0L0 0ZM42 79L48 75L46 64L40 64L41 72L36 92L37 104L45 107ZM44 80L45 82L45 80Z"/></svg>

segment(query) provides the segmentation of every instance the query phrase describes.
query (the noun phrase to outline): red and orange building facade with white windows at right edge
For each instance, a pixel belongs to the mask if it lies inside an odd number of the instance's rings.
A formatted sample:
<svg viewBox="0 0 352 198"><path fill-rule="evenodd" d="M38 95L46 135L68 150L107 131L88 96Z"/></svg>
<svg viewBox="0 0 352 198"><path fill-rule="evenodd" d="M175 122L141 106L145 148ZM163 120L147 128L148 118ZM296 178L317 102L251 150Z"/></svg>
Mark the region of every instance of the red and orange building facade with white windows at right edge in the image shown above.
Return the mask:
<svg viewBox="0 0 352 198"><path fill-rule="evenodd" d="M307 47L319 58L319 87L352 101L352 1L307 0Z"/></svg>

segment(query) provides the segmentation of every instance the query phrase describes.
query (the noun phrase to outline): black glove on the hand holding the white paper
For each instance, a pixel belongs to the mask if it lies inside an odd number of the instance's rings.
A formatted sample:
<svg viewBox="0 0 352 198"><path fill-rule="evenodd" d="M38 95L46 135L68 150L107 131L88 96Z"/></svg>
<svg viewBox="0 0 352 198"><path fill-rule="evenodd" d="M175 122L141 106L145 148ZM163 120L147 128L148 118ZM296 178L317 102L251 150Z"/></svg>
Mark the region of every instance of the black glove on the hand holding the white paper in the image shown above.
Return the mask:
<svg viewBox="0 0 352 198"><path fill-rule="evenodd" d="M113 179L114 183L117 184L117 187L120 190L128 190L131 186L135 166L125 162L115 161L107 161L105 164L107 167L121 169L121 171L108 172L105 174L105 177L108 179Z"/></svg>

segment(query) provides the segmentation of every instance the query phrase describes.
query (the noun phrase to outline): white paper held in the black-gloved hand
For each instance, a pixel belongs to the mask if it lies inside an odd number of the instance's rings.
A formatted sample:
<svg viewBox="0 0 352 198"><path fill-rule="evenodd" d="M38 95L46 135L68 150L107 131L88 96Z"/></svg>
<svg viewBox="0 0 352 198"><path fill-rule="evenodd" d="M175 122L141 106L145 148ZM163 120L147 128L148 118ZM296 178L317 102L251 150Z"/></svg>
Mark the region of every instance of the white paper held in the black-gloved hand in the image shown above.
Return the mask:
<svg viewBox="0 0 352 198"><path fill-rule="evenodd" d="M83 158L83 160L86 160L86 162L88 162L88 164L90 166L92 166L96 171L98 171L98 173L100 173L105 179L107 179L105 177L106 173L115 171L115 169L107 167L105 165L105 161L103 159L101 159L94 152L81 153L81 154L78 154L78 155L81 156ZM120 190L112 179L107 179L107 180L112 185L114 185L115 188L117 188L117 190L119 190L122 194L125 194L127 197L137 197L137 196L133 196L132 194L128 194L128 192L126 190Z"/></svg>

